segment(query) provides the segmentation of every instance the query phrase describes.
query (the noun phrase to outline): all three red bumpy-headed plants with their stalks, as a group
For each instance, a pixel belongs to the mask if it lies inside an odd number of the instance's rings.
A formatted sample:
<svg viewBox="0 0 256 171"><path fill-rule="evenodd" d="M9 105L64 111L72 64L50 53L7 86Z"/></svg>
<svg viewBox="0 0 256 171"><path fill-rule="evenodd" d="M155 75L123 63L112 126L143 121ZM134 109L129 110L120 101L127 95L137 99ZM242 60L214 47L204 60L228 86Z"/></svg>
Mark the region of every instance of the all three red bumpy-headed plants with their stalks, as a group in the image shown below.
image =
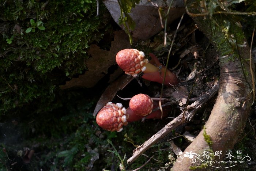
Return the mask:
<svg viewBox="0 0 256 171"><path fill-rule="evenodd" d="M155 81L158 83L163 82L165 67L158 61L157 57L149 54L153 63L148 62L145 54L137 49L124 49L117 53L116 62L121 69L128 75L133 77L141 76L143 79ZM167 69L165 82L166 86L178 84L176 75ZM153 103L152 98L146 94L138 94L131 98L129 107L125 109L121 103L109 102L97 114L97 124L108 131L120 132L123 126L128 122L138 121L142 118L161 118L162 113L160 110L153 111L157 107Z"/></svg>

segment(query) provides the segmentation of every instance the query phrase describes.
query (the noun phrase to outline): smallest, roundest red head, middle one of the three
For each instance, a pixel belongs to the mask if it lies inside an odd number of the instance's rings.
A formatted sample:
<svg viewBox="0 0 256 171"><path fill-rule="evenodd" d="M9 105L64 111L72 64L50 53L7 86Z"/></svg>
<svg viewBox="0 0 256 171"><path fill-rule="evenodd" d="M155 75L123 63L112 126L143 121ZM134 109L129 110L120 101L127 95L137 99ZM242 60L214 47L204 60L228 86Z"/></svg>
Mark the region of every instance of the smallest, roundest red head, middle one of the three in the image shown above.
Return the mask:
<svg viewBox="0 0 256 171"><path fill-rule="evenodd" d="M146 116L152 112L153 100L146 94L137 94L132 97L129 106L136 115Z"/></svg>

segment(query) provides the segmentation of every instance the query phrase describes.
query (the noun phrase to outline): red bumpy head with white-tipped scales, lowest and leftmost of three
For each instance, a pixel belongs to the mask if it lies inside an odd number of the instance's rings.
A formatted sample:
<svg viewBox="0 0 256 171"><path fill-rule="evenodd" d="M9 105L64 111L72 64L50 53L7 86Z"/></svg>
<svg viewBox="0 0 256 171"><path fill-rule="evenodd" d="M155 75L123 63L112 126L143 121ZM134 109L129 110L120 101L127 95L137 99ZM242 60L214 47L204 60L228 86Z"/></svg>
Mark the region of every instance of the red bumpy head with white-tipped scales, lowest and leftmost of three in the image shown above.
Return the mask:
<svg viewBox="0 0 256 171"><path fill-rule="evenodd" d="M96 122L105 130L120 132L123 125L127 125L128 117L121 103L109 102L98 112Z"/></svg>

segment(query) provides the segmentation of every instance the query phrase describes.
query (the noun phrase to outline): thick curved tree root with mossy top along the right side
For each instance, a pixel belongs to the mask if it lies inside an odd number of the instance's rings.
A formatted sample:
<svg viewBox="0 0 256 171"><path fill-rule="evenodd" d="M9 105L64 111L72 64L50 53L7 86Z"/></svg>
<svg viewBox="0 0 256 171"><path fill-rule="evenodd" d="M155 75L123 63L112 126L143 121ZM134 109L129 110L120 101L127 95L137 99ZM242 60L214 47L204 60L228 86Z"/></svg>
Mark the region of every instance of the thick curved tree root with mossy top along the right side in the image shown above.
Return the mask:
<svg viewBox="0 0 256 171"><path fill-rule="evenodd" d="M197 10L200 9L200 5L191 4L188 6L191 7L189 11L200 13L200 10ZM208 17L195 17L193 19L198 28L207 35L218 50L218 54L221 56L219 57L221 75L217 101L204 126L205 129L199 133L181 156L185 152L202 156L204 151L221 151L222 156L216 160L223 160L227 150L233 148L244 129L252 104L250 92L253 86L249 74L249 45L239 23L231 22L230 16L218 15L212 16L212 19ZM196 160L192 163L189 157L179 159L173 166L174 171L197 168L200 170L211 169L211 167L207 167L208 165L204 161Z"/></svg>

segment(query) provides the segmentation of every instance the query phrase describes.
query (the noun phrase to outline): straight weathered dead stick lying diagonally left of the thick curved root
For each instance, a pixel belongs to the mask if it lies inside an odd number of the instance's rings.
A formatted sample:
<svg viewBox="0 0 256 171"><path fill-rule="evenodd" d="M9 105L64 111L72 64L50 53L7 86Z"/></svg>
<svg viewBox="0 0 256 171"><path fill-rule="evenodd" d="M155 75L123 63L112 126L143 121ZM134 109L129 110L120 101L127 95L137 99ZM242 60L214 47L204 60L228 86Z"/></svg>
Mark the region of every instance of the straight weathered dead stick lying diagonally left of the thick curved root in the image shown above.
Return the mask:
<svg viewBox="0 0 256 171"><path fill-rule="evenodd" d="M218 92L218 89L219 85L216 85L209 92L202 95L199 98L199 100L196 100L194 103L187 106L186 109L183 112L181 112L180 115L178 115L178 117L174 118L171 122L165 125L165 127L159 130L154 136L152 136L146 142L144 142L144 144L136 148L133 151L132 157L130 157L127 160L127 163L133 162L136 158L142 155L143 152L145 152L148 148L155 144L155 142L165 137L168 133L170 133L173 129L177 128L182 123L189 122L195 115L196 111L199 110L202 106L204 106L204 104L208 102L208 100L210 100Z"/></svg>

